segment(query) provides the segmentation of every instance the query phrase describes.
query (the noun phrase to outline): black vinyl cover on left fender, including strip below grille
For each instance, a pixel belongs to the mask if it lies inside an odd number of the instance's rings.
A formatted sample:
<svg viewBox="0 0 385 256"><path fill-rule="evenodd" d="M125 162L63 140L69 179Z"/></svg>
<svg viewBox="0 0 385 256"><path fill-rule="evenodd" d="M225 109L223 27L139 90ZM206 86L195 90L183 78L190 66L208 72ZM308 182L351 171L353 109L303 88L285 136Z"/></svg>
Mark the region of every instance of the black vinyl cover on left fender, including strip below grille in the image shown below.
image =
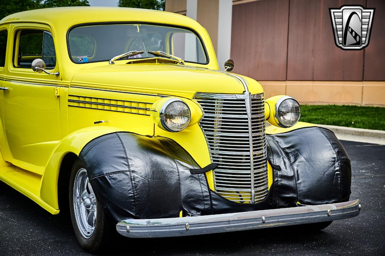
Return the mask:
<svg viewBox="0 0 385 256"><path fill-rule="evenodd" d="M124 219L175 218L269 209L239 204L211 191L200 166L175 141L114 132L90 141L79 154L99 202L115 223ZM185 215L184 215L185 216Z"/></svg>

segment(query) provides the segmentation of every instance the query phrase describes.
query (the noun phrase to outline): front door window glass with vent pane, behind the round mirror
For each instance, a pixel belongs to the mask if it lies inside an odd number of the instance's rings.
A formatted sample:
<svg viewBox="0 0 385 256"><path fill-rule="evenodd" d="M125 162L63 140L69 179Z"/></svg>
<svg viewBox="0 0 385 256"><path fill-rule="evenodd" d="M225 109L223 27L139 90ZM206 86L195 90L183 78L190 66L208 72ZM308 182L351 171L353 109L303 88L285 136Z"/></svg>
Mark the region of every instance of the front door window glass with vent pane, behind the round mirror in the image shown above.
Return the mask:
<svg viewBox="0 0 385 256"><path fill-rule="evenodd" d="M33 60L42 59L46 69L56 66L54 39L42 30L22 30L19 37L16 67L30 68Z"/></svg>

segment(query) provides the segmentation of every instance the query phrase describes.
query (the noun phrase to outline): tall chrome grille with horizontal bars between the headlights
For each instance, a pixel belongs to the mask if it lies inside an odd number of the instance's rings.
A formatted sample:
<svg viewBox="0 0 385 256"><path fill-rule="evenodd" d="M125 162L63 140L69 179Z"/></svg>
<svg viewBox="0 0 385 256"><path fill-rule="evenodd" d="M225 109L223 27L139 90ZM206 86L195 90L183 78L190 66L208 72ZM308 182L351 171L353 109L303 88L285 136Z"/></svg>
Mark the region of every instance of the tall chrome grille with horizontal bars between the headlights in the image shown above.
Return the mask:
<svg viewBox="0 0 385 256"><path fill-rule="evenodd" d="M214 189L241 203L262 201L268 193L264 94L251 96L251 104L246 103L249 99L238 99L234 94L198 92L194 96L203 110L199 126L211 162L219 164L213 171ZM246 106L251 111L251 122Z"/></svg>

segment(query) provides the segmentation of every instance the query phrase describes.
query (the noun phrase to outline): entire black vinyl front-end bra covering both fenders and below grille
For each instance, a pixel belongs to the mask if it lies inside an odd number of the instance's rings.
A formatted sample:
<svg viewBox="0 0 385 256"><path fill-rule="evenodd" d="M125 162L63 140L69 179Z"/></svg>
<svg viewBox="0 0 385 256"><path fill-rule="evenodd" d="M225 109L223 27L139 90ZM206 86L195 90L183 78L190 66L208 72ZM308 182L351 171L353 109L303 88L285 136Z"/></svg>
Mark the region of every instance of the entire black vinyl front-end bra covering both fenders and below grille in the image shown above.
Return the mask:
<svg viewBox="0 0 385 256"><path fill-rule="evenodd" d="M209 189L205 173L177 142L114 132L90 141L79 154L100 203L115 223L348 201L350 160L333 132L306 127L266 135L273 185L257 204L230 201Z"/></svg>

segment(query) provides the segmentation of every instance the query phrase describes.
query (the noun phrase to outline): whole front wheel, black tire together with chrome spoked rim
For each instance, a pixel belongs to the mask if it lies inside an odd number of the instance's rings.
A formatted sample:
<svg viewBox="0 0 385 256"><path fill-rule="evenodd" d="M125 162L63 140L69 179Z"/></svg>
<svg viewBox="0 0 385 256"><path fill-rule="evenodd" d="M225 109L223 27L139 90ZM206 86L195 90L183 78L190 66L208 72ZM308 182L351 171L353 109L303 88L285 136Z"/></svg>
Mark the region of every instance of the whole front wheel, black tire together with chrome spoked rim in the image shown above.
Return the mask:
<svg viewBox="0 0 385 256"><path fill-rule="evenodd" d="M113 224L98 202L87 175L87 167L77 159L72 167L69 206L75 236L87 251L96 253L109 241Z"/></svg>

